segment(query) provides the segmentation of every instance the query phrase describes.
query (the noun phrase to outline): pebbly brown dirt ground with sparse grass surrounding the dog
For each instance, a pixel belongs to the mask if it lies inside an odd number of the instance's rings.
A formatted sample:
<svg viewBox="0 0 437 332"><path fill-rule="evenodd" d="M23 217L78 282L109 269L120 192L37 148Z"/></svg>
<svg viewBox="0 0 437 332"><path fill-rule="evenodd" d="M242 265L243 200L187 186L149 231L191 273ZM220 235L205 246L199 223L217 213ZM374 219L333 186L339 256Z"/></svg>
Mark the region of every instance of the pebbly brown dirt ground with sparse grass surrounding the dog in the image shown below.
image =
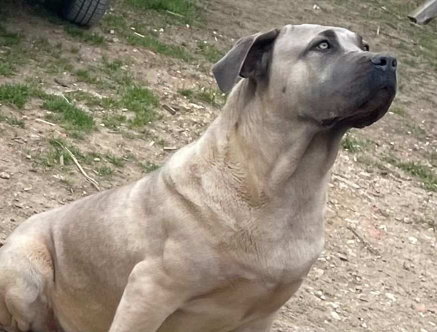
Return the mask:
<svg viewBox="0 0 437 332"><path fill-rule="evenodd" d="M8 61L13 68L0 71L0 86L36 84L94 120L92 130L79 130L53 117L59 110L50 111L47 95L28 91L21 105L7 94L2 100L0 87L0 243L31 215L97 191L53 138L75 148L101 190L122 186L196 139L220 112L225 96L209 68L235 40L290 23L342 26L372 50L396 55L399 91L382 120L345 138L330 183L325 249L273 331L437 331L437 23L408 22L418 3L212 0L200 2L203 20L188 24L114 1L101 24L81 35L44 6L0 0L0 26L21 36L0 39L0 70ZM147 38L137 35L136 44L135 32L174 49L145 47ZM134 125L124 80L156 96L147 123ZM110 98L116 101L103 103Z"/></svg>

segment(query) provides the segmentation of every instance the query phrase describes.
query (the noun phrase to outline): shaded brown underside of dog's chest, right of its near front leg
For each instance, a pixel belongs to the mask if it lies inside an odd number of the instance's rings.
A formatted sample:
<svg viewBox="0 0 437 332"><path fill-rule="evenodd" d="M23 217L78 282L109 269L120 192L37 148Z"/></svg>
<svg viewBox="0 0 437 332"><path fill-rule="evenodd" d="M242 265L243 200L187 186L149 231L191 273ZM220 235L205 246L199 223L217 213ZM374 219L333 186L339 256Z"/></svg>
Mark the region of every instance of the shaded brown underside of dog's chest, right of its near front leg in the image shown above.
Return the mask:
<svg viewBox="0 0 437 332"><path fill-rule="evenodd" d="M187 301L158 332L229 332L245 322L274 313L298 289L301 280L277 284L236 278Z"/></svg>

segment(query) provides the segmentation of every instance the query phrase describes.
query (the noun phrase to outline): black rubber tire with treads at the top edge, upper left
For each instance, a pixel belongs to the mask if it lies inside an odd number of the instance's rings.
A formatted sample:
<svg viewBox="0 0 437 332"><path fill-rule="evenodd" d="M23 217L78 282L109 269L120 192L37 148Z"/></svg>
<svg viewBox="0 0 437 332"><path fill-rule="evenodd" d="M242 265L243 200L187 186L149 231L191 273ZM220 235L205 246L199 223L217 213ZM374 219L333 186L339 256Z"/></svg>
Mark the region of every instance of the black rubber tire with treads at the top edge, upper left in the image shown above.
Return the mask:
<svg viewBox="0 0 437 332"><path fill-rule="evenodd" d="M64 0L64 18L81 26L93 26L103 17L110 0Z"/></svg>

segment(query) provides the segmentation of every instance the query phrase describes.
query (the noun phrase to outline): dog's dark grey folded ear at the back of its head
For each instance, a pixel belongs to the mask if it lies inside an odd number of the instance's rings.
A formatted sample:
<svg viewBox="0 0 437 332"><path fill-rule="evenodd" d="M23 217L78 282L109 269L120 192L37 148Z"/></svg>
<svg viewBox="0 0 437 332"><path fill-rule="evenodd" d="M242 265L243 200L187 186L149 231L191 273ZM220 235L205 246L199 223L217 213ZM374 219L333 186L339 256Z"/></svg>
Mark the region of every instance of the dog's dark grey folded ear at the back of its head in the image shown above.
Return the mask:
<svg viewBox="0 0 437 332"><path fill-rule="evenodd" d="M231 91L238 75L259 78L265 75L273 41L279 35L274 29L240 39L214 67L212 73L223 93Z"/></svg>

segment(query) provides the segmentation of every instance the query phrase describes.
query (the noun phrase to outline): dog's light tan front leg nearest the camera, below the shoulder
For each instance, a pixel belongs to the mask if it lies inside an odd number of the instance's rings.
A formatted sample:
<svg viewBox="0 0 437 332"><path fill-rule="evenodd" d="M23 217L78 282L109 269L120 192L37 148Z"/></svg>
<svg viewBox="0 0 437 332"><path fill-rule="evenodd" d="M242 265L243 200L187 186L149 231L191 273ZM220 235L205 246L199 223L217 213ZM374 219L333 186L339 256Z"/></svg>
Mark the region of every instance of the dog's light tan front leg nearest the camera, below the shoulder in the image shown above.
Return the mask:
<svg viewBox="0 0 437 332"><path fill-rule="evenodd" d="M186 298L180 281L168 276L160 263L138 263L109 332L155 332Z"/></svg>

